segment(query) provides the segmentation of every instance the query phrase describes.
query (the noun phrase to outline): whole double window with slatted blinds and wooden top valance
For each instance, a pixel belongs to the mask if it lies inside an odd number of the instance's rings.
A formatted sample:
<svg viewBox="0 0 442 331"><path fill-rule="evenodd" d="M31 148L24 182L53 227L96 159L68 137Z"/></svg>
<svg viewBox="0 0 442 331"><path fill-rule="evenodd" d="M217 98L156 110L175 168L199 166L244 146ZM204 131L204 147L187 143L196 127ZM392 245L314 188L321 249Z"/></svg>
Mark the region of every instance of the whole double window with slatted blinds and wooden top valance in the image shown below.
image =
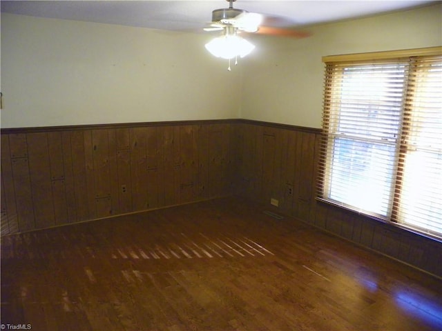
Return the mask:
<svg viewBox="0 0 442 331"><path fill-rule="evenodd" d="M442 238L442 48L410 54L323 59L318 194Z"/></svg>

